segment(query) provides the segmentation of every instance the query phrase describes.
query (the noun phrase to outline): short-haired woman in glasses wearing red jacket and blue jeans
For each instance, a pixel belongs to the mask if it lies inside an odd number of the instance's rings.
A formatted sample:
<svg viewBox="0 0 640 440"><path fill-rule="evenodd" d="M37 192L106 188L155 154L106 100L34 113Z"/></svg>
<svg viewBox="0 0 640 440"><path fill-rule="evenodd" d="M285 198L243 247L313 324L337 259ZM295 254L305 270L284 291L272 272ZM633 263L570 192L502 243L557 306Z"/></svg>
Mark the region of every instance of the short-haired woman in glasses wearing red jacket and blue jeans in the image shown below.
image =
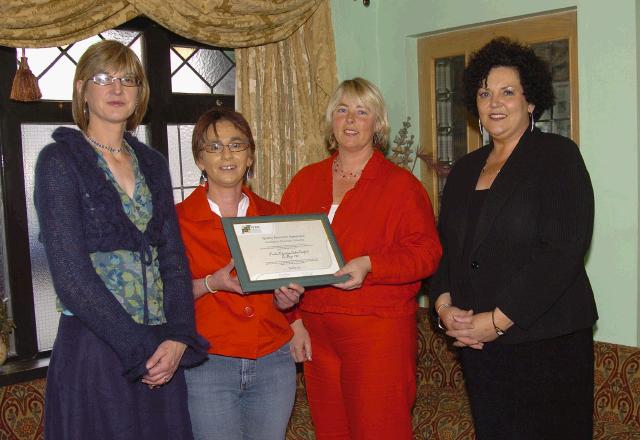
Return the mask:
<svg viewBox="0 0 640 440"><path fill-rule="evenodd" d="M178 204L178 218L193 277L198 333L209 359L186 372L196 439L282 440L295 396L293 334L277 307L297 302L302 288L243 294L220 217L273 215L280 207L243 185L255 144L244 117L213 109L193 131L193 157L201 185Z"/></svg>

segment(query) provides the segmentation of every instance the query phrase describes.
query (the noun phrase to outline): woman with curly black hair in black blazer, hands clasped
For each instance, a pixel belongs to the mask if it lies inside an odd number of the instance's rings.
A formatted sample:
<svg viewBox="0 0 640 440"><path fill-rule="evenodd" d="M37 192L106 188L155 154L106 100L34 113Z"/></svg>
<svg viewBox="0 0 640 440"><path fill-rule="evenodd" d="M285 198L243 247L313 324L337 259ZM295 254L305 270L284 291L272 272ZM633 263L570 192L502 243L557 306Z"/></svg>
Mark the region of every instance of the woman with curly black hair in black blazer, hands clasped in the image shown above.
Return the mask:
<svg viewBox="0 0 640 440"><path fill-rule="evenodd" d="M464 81L491 142L447 178L430 299L461 347L476 435L591 439L589 174L576 144L534 128L553 89L530 48L497 38L472 56Z"/></svg>

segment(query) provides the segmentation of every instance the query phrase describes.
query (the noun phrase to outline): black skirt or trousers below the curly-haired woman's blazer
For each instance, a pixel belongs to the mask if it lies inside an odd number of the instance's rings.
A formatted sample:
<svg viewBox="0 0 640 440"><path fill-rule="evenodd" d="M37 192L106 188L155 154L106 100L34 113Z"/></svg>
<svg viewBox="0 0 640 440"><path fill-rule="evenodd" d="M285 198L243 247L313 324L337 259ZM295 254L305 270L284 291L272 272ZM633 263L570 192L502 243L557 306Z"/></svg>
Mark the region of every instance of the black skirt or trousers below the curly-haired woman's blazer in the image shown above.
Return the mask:
<svg viewBox="0 0 640 440"><path fill-rule="evenodd" d="M591 440L593 331L461 350L478 440Z"/></svg>

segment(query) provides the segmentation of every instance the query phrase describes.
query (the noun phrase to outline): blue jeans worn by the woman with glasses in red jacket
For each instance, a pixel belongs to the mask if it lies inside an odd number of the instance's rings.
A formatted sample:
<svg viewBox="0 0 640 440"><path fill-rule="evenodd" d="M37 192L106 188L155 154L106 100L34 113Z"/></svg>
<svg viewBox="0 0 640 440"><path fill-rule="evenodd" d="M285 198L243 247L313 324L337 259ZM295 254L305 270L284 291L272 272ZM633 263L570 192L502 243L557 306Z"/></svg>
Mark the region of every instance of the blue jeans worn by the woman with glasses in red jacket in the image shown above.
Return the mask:
<svg viewBox="0 0 640 440"><path fill-rule="evenodd" d="M258 359L209 355L185 370L196 440L282 440L296 393L289 343Z"/></svg>

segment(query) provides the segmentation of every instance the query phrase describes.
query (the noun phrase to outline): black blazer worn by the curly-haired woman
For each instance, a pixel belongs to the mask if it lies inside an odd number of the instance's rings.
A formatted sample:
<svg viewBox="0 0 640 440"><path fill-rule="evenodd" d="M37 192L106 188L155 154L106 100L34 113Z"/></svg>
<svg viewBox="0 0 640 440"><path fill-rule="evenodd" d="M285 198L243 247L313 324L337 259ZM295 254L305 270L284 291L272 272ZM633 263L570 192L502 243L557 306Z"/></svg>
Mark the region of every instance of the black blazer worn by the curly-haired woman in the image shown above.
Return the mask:
<svg viewBox="0 0 640 440"><path fill-rule="evenodd" d="M500 307L515 325L497 343L592 327L598 315L584 259L593 190L570 139L537 129L523 134L487 194L464 258L471 195L491 148L461 158L447 178L438 222L444 254L431 304L451 292L454 305L476 313Z"/></svg>

